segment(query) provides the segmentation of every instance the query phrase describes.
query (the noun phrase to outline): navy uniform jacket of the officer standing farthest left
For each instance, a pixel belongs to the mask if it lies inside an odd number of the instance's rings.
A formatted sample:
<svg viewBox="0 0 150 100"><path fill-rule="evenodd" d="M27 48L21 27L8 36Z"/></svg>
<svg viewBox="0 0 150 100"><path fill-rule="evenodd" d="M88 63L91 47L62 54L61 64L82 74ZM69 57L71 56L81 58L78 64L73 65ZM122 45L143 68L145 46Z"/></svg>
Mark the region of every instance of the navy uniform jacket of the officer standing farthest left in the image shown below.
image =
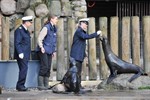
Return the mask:
<svg viewBox="0 0 150 100"><path fill-rule="evenodd" d="M18 59L19 54L24 54L24 59L30 59L31 40L30 33L22 25L20 25L14 33L14 58Z"/></svg>

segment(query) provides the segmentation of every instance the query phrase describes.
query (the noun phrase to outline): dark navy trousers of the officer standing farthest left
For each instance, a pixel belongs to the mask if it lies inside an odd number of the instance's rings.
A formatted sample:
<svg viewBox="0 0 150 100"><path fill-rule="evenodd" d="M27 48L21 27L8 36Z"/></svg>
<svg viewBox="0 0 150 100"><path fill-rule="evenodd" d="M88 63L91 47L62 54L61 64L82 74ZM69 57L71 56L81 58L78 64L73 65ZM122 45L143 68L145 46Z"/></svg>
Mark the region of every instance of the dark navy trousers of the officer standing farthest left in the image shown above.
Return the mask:
<svg viewBox="0 0 150 100"><path fill-rule="evenodd" d="M16 88L23 88L25 87L25 81L27 76L28 60L17 59L17 63L19 66L19 76L18 76Z"/></svg>

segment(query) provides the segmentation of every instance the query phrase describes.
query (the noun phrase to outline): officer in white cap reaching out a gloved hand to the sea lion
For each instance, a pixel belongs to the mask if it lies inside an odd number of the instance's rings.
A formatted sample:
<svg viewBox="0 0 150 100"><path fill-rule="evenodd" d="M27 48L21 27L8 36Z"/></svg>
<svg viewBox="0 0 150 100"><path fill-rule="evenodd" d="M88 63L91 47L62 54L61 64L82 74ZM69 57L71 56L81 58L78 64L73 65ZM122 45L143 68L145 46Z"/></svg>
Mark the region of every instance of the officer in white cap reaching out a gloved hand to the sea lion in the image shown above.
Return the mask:
<svg viewBox="0 0 150 100"><path fill-rule="evenodd" d="M82 71L82 62L86 57L86 40L98 37L102 32L98 30L93 34L87 33L88 27L88 18L83 18L79 20L79 26L76 29L73 37L73 43L71 47L70 57L74 58L76 61L76 66L78 69L79 75L79 84L81 88L81 71Z"/></svg>

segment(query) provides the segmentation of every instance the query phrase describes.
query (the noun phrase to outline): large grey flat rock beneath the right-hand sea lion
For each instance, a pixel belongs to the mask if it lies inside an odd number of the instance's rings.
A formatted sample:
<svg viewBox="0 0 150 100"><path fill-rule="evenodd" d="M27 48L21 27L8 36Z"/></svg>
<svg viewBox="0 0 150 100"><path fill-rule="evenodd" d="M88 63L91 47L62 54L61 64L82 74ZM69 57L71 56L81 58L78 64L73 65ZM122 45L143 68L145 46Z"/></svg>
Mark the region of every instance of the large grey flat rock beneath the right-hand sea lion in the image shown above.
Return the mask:
<svg viewBox="0 0 150 100"><path fill-rule="evenodd" d="M140 76L139 78L135 79L131 83L128 80L134 74L121 74L118 75L110 84L107 84L106 81L102 81L98 85L98 89L104 90L137 90L142 87L150 86L150 77L149 76Z"/></svg>

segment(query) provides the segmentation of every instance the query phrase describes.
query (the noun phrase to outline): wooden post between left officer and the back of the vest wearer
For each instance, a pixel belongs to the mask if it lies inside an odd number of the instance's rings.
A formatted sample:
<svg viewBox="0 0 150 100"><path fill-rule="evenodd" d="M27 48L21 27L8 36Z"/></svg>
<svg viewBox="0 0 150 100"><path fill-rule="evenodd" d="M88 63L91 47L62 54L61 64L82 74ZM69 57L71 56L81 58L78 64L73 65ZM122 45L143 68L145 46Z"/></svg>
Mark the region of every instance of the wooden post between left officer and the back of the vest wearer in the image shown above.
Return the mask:
<svg viewBox="0 0 150 100"><path fill-rule="evenodd" d="M34 49L36 48L37 46L37 38L38 38L38 35L40 33L40 30L42 28L41 26L41 19L40 18L35 18L35 21L34 21Z"/></svg>

